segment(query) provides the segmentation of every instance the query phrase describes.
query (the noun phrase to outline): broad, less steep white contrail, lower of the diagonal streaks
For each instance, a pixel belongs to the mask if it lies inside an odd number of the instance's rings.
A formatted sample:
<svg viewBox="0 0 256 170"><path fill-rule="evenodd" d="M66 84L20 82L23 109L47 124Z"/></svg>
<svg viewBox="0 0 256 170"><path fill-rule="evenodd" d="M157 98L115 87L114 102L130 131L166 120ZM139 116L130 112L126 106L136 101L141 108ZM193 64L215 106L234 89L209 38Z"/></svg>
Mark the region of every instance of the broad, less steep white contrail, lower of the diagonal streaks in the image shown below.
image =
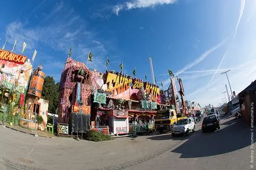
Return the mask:
<svg viewBox="0 0 256 170"><path fill-rule="evenodd" d="M211 55L212 52L214 52L216 49L218 49L219 47L221 47L224 43L226 42L226 39L224 39L224 41L222 41L221 43L219 43L216 46L213 46L211 49L208 49L208 51L205 51L204 54L202 54L201 56L199 56L198 58L196 58L193 62L189 63L188 65L184 66L182 69L180 69L176 75L178 76L179 74L182 74L183 72L185 72L186 70L192 68L195 65L198 65L201 61L203 61L208 55Z"/></svg>

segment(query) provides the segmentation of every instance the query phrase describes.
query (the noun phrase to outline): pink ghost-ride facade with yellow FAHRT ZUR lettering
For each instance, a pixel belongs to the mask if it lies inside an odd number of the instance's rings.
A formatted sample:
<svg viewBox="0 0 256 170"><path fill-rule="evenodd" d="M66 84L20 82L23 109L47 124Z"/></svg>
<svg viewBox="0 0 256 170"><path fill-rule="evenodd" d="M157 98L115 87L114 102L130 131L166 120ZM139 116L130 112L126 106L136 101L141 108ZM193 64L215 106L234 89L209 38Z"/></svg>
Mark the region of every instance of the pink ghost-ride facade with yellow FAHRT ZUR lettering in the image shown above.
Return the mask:
<svg viewBox="0 0 256 170"><path fill-rule="evenodd" d="M129 134L134 124L153 128L157 109L168 107L159 86L120 72L91 71L71 57L61 75L59 106L59 122L71 133L113 135Z"/></svg>

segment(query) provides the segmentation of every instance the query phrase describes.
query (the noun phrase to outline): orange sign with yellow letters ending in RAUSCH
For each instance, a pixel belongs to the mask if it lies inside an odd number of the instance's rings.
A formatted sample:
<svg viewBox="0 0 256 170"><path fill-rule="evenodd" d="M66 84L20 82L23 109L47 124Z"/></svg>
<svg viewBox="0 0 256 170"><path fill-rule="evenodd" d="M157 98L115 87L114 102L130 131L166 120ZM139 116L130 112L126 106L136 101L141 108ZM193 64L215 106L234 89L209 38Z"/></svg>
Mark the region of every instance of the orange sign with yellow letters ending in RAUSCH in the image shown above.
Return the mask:
<svg viewBox="0 0 256 170"><path fill-rule="evenodd" d="M12 52L5 51L4 49L0 49L0 59L15 62L17 64L24 64L27 58L27 56L14 54Z"/></svg>

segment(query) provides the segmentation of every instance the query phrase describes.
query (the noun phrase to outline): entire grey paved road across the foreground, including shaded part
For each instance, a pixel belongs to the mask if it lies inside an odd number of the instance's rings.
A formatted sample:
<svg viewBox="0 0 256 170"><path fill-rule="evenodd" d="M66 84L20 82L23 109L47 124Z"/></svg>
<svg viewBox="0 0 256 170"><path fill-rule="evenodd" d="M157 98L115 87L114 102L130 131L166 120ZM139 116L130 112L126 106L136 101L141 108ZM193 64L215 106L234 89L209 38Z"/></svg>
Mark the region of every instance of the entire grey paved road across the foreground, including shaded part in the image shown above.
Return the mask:
<svg viewBox="0 0 256 170"><path fill-rule="evenodd" d="M34 138L0 128L0 169L255 169L251 131L242 120L222 119L221 129L189 136L157 132L137 138L90 142ZM254 154L255 155L255 154Z"/></svg>

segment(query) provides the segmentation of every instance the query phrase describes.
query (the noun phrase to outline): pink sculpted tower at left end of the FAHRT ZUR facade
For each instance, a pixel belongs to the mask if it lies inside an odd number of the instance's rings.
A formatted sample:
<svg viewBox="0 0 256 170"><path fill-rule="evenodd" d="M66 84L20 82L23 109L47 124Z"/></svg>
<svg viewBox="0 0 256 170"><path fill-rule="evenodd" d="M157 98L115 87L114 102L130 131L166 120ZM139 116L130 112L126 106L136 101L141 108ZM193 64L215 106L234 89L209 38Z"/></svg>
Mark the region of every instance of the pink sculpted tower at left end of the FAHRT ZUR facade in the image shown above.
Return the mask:
<svg viewBox="0 0 256 170"><path fill-rule="evenodd" d="M71 57L67 58L60 80L59 122L68 123L71 112L90 114L91 71Z"/></svg>

